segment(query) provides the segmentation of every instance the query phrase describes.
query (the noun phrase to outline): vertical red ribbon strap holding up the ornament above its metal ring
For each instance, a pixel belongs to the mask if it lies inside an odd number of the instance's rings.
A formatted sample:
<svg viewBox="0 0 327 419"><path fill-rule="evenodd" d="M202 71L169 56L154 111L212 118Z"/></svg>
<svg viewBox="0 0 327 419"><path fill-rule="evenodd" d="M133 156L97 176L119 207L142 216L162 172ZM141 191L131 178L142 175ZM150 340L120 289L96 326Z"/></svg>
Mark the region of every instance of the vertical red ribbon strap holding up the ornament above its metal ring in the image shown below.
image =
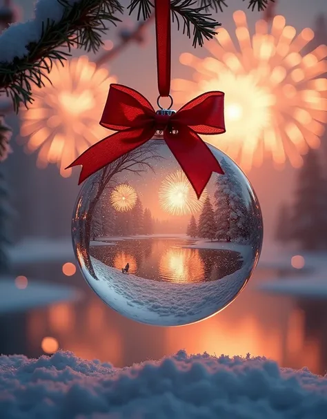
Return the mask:
<svg viewBox="0 0 327 419"><path fill-rule="evenodd" d="M170 93L171 39L170 0L155 0L158 90L161 97Z"/></svg>

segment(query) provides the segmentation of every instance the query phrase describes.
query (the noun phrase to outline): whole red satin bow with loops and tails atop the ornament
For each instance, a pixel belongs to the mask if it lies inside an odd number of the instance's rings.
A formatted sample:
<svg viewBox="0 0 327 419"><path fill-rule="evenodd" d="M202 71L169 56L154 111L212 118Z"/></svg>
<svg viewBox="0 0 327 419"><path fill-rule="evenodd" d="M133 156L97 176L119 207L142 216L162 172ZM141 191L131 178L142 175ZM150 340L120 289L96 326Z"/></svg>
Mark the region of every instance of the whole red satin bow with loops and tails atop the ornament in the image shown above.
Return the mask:
<svg viewBox="0 0 327 419"><path fill-rule="evenodd" d="M107 164L146 143L157 130L201 196L212 172L224 174L217 159L198 134L225 133L224 93L207 92L177 113L157 115L139 92L121 84L110 86L100 124L118 132L94 144L68 167L83 166L79 184ZM177 133L172 133L172 128Z"/></svg>

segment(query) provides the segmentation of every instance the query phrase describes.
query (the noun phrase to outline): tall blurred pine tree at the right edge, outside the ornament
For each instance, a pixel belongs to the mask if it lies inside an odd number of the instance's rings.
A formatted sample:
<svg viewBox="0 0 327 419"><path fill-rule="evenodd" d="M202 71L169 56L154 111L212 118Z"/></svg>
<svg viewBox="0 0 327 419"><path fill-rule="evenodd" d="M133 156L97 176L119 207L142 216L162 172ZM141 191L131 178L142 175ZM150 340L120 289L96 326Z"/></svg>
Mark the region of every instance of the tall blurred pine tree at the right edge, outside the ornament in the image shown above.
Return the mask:
<svg viewBox="0 0 327 419"><path fill-rule="evenodd" d="M326 249L326 180L315 150L308 151L297 177L290 239L299 242L303 250Z"/></svg>

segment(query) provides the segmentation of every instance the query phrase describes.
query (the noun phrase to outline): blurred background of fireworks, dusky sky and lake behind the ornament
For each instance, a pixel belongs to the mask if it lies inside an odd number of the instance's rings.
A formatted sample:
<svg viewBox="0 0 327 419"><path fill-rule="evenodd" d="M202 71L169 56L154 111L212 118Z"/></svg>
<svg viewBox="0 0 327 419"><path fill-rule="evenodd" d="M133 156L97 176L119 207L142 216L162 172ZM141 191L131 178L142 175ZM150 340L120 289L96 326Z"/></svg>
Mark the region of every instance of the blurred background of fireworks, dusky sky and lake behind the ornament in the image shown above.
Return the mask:
<svg viewBox="0 0 327 419"><path fill-rule="evenodd" d="M8 8L12 21L33 15L32 1L0 2L3 26ZM10 262L1 265L1 353L60 348L122 367L186 349L264 355L325 373L327 3L279 0L265 13L241 0L228 5L214 13L222 25L204 48L194 50L173 25L172 88L177 104L226 92L227 133L211 142L243 168L264 216L264 248L248 286L213 318L159 328L112 311L79 273L70 237L79 169L63 168L108 135L98 122L110 83L157 99L153 19L138 26L125 15L96 56L74 50L64 68L54 67L52 86L35 88L28 111L14 115L0 103L13 130L0 166L1 257Z"/></svg>

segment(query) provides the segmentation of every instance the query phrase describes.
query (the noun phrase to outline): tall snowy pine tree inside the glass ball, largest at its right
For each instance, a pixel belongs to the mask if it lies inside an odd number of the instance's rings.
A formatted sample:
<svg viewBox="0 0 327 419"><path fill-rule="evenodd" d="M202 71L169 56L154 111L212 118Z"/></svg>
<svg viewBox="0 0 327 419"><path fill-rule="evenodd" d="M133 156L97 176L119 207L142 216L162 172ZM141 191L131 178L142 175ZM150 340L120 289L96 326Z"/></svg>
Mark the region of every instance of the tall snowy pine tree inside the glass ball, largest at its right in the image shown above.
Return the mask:
<svg viewBox="0 0 327 419"><path fill-rule="evenodd" d="M221 159L221 167L224 175L217 175L215 191L216 238L226 242L246 240L248 217L241 183L226 159Z"/></svg>

